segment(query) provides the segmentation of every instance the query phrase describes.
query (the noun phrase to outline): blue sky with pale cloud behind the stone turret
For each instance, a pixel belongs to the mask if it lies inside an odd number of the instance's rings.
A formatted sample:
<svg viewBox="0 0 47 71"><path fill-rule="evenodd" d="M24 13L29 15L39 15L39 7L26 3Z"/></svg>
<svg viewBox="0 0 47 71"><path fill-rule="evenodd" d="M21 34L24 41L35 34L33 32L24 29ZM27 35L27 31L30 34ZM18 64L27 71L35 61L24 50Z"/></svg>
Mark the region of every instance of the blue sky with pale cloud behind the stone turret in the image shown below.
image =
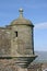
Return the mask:
<svg viewBox="0 0 47 71"><path fill-rule="evenodd" d="M0 0L0 26L19 16L19 9L33 22L34 49L47 51L47 0Z"/></svg>

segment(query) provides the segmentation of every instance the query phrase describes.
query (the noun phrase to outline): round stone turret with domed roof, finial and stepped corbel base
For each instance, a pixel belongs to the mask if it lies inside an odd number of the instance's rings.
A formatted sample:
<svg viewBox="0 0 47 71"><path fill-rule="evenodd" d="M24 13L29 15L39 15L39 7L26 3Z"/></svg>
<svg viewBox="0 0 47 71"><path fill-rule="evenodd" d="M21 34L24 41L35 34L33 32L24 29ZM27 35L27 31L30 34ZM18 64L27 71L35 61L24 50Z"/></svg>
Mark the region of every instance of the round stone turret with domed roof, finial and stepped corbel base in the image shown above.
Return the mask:
<svg viewBox="0 0 47 71"><path fill-rule="evenodd" d="M11 22L11 57L16 59L21 67L27 67L35 58L33 23L24 19L23 9L20 16Z"/></svg>

